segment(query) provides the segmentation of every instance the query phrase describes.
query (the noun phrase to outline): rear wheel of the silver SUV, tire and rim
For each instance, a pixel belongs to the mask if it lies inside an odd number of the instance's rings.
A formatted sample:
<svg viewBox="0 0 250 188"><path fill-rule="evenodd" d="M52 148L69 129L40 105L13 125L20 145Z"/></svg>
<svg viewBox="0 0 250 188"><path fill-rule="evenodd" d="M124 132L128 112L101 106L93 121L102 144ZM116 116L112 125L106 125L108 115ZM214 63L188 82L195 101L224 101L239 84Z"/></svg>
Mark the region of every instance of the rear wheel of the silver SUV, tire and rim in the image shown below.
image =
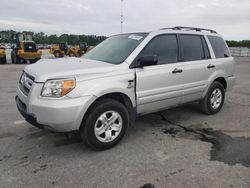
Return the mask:
<svg viewBox="0 0 250 188"><path fill-rule="evenodd" d="M205 98L200 102L203 113L212 115L218 113L225 100L225 88L220 82L213 82Z"/></svg>

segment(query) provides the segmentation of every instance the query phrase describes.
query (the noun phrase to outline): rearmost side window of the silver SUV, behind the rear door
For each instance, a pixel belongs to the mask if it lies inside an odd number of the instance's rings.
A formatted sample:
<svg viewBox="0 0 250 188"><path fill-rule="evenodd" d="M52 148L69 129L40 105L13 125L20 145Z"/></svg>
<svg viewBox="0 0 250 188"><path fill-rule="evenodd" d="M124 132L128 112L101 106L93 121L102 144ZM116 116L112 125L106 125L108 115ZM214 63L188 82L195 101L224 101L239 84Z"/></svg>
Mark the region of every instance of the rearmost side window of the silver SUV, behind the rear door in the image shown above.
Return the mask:
<svg viewBox="0 0 250 188"><path fill-rule="evenodd" d="M225 41L221 37L207 36L216 58L230 57Z"/></svg>

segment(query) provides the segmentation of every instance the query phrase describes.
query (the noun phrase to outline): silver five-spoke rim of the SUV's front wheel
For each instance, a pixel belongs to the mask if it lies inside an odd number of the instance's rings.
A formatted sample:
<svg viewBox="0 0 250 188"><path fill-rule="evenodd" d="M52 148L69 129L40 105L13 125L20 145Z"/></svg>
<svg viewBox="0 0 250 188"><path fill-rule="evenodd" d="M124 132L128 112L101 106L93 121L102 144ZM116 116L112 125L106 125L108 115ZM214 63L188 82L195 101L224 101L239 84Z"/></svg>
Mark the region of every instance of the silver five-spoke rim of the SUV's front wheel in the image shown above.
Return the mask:
<svg viewBox="0 0 250 188"><path fill-rule="evenodd" d="M122 117L118 112L104 112L95 123L95 136L101 142L112 142L121 133L122 126Z"/></svg>

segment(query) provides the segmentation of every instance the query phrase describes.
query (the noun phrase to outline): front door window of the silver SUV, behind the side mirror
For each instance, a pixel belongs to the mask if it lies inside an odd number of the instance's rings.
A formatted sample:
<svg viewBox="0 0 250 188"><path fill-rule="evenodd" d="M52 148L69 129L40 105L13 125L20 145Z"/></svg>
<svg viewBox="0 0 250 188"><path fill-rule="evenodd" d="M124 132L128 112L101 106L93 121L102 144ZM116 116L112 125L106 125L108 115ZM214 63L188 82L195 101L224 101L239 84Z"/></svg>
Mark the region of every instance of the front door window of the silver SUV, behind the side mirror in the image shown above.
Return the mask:
<svg viewBox="0 0 250 188"><path fill-rule="evenodd" d="M174 63L178 60L176 35L161 35L152 39L142 50L140 56L157 55L158 64Z"/></svg>

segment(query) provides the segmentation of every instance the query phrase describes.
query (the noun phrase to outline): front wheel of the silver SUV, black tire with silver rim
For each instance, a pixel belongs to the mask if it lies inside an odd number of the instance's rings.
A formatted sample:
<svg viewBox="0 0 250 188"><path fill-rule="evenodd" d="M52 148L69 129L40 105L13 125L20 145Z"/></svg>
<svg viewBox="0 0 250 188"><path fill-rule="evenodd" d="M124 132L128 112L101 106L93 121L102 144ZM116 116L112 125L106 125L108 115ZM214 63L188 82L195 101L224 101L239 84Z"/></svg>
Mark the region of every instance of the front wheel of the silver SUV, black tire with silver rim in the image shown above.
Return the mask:
<svg viewBox="0 0 250 188"><path fill-rule="evenodd" d="M115 119L111 120L111 117ZM121 141L128 131L129 124L129 113L123 104L113 99L101 99L90 107L80 134L87 146L106 150Z"/></svg>

